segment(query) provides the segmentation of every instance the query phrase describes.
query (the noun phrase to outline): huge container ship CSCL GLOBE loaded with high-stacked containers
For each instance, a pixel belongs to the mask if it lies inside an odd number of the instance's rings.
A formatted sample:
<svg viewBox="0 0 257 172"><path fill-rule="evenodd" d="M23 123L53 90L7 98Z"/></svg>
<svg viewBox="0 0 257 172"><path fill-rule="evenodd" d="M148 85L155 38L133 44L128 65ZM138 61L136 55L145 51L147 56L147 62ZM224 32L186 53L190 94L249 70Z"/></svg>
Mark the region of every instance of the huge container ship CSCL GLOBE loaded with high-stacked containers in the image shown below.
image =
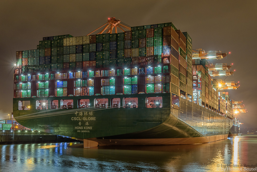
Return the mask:
<svg viewBox="0 0 257 172"><path fill-rule="evenodd" d="M85 147L226 139L238 132L232 102L204 58L226 55L193 52L173 23L129 27L110 18L96 35L44 37L17 51L13 115Z"/></svg>

